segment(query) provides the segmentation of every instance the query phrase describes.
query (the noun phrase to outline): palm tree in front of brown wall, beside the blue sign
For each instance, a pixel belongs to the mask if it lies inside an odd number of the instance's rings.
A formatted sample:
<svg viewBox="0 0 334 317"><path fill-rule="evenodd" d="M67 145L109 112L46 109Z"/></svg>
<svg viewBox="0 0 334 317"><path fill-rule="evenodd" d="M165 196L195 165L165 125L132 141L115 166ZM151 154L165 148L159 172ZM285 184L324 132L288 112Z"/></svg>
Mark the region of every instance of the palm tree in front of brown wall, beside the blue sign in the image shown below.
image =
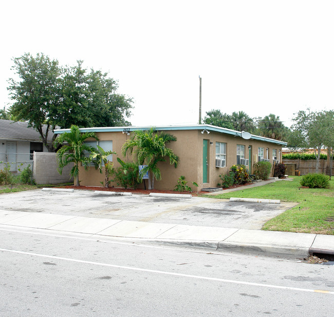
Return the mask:
<svg viewBox="0 0 334 317"><path fill-rule="evenodd" d="M176 137L172 134L156 132L152 127L148 131L136 130L129 140L122 147L123 155L126 153L134 153L139 165L147 165L141 170L141 177L147 171L149 175L149 189L154 189L154 179L161 180L161 172L158 163L165 161L165 157L169 157L170 164L177 167L179 157L174 154L173 150L166 147L166 143L176 141Z"/></svg>

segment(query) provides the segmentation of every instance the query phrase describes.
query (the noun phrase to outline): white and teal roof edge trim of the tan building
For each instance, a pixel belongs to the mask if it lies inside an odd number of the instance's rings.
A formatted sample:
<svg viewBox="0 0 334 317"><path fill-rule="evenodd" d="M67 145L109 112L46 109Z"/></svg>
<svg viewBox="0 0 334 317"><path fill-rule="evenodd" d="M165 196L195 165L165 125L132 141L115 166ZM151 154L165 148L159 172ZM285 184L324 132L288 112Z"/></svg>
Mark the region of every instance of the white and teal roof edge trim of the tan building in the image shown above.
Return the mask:
<svg viewBox="0 0 334 317"><path fill-rule="evenodd" d="M94 127L94 128L80 128L81 132L132 132L136 130L148 130L152 126L128 126L128 127ZM216 127L207 124L198 124L198 125L178 125L178 126L154 126L158 131L175 131L175 130L207 130L209 132L218 132L231 134L234 136L242 136L244 131L236 131L227 128ZM64 132L69 132L70 129L56 129L53 132L55 134L60 134ZM277 145L287 146L286 142L274 140L273 138L259 136L251 134L251 140L264 141L269 143L275 143Z"/></svg>

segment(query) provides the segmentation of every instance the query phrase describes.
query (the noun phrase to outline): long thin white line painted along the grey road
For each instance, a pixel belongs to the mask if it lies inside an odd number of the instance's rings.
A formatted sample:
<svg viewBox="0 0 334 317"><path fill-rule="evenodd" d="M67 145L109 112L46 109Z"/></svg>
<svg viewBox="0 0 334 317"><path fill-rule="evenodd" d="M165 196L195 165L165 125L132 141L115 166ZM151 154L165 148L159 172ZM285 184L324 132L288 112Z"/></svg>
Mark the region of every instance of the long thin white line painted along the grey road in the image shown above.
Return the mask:
<svg viewBox="0 0 334 317"><path fill-rule="evenodd" d="M199 280L208 280L208 281L216 281L216 282L260 286L260 287L268 287L268 288L279 288L279 289L295 290L295 291L302 291L302 292L334 294L334 291L327 291L327 290L298 288L298 287L289 287L289 286L279 286L279 285L269 285L269 284L251 283L251 282L243 282L243 281L225 280L225 279L218 279L218 278L209 278L208 276L190 275L190 274L174 273L174 272L167 272L167 271L158 271L158 270L151 270L151 269L142 269L142 268L138 268L138 267L129 267L129 266L116 265L116 264L108 264L108 263L84 261L84 260L77 260L77 259L69 259L68 257L53 256L53 255L46 255L46 254L39 254L39 253L31 253L31 252L24 252L24 251L17 251L17 250L8 250L8 249L2 249L2 248L0 248L0 251L26 254L26 255L33 255L33 256L40 256L40 257L47 257L48 259L57 259L57 260L77 262L77 263L85 263L85 264L92 264L92 265L115 267L115 268L120 268L120 269L125 269L125 270L133 270L133 271L142 271L142 272L150 272L150 273L157 273L157 274L181 276L183 278L192 278L192 279L199 279Z"/></svg>

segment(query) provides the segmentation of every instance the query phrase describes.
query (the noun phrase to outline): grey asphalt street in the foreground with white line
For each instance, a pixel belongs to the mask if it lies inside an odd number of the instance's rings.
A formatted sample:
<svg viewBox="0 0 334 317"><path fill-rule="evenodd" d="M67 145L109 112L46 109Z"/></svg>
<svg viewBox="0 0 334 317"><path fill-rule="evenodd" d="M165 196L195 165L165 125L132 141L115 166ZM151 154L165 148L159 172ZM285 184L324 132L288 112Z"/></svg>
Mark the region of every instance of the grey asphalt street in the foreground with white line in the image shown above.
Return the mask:
<svg viewBox="0 0 334 317"><path fill-rule="evenodd" d="M333 314L332 265L9 229L0 241L2 316Z"/></svg>

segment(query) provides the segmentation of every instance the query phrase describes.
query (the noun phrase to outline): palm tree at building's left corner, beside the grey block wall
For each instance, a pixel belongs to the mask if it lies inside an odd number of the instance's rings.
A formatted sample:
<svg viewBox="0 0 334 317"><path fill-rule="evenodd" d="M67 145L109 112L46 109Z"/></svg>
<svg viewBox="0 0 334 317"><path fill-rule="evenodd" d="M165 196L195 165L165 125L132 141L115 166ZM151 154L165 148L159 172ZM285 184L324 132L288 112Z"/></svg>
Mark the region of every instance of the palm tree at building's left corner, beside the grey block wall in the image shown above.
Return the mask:
<svg viewBox="0 0 334 317"><path fill-rule="evenodd" d="M88 137L94 137L95 140L99 140L94 132L81 133L78 126L72 125L70 132L60 134L54 142L56 146L65 143L65 145L57 151L59 172L61 174L66 165L74 163L74 166L70 170L70 175L75 177L76 186L80 186L79 164L87 169L90 158L86 153L95 150L94 147L84 143Z"/></svg>

